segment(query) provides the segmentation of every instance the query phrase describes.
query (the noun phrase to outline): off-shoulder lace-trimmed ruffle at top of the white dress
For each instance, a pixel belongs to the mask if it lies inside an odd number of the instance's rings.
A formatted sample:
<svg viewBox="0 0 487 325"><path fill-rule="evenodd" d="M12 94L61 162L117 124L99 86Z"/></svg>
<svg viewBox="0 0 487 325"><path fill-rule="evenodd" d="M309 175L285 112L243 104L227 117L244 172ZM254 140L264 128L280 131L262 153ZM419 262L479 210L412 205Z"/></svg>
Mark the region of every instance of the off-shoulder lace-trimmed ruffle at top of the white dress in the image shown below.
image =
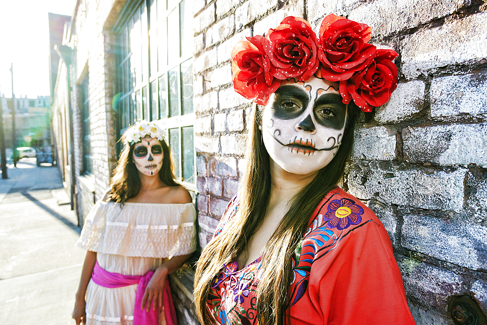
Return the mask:
<svg viewBox="0 0 487 325"><path fill-rule="evenodd" d="M98 202L76 246L107 254L166 258L196 249L196 211L188 204Z"/></svg>

